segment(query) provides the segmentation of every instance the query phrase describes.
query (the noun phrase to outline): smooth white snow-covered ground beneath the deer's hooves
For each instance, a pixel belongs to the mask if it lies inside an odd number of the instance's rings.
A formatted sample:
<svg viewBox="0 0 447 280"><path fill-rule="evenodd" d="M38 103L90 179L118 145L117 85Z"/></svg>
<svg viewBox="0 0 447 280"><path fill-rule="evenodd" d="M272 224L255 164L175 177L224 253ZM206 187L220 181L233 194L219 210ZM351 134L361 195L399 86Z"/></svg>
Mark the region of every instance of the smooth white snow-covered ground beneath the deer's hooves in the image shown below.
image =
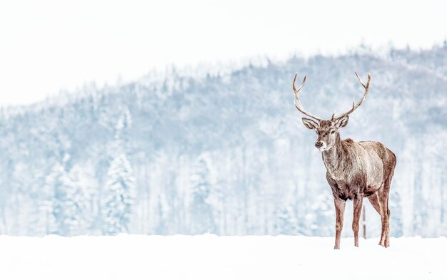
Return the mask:
<svg viewBox="0 0 447 280"><path fill-rule="evenodd" d="M0 279L447 279L447 239L0 237Z"/></svg>

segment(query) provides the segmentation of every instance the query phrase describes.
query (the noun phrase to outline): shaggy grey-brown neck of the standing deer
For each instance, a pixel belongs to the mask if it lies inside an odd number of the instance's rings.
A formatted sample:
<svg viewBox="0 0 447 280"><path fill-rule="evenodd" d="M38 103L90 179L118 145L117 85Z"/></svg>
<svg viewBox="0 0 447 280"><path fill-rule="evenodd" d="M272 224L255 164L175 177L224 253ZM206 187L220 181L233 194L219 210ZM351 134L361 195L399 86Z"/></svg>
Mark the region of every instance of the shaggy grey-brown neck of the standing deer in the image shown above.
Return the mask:
<svg viewBox="0 0 447 280"><path fill-rule="evenodd" d="M326 170L328 170L331 177L333 177L333 179L339 177L346 167L345 159L347 156L346 150L343 149L341 144L340 134L337 133L335 144L331 147L331 149L323 151L322 155Z"/></svg>

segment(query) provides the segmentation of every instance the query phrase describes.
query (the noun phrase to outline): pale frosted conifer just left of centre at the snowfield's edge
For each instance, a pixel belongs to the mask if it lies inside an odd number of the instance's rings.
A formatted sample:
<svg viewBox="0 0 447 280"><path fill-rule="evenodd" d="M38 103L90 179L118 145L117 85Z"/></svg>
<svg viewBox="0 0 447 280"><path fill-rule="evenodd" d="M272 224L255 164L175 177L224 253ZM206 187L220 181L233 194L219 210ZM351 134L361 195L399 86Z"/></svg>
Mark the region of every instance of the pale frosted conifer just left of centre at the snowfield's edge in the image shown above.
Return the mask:
<svg viewBox="0 0 447 280"><path fill-rule="evenodd" d="M189 206L191 213L190 233L215 233L216 224L214 222L213 208L209 204L211 184L209 182L209 169L206 161L203 158L199 159L195 169L194 174L191 176L193 189L192 201Z"/></svg>

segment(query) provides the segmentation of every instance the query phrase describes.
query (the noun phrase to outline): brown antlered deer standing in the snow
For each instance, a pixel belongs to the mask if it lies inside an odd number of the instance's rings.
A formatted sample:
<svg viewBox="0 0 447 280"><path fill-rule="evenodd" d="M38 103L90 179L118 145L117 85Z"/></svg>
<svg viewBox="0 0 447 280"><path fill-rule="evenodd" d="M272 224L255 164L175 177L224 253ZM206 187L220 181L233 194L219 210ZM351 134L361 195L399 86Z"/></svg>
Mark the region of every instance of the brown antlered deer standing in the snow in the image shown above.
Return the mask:
<svg viewBox="0 0 447 280"><path fill-rule="evenodd" d="M316 149L321 152L326 167L326 180L332 190L333 202L336 210L336 237L333 249L340 249L341 231L343 229L343 215L346 201L353 202L352 230L354 246L358 247L358 229L363 205L363 198L369 202L381 216L381 238L378 243L382 247L390 246L390 209L388 196L391 180L396 167L396 155L381 142L359 141L348 138L341 140L339 130L346 127L349 115L353 113L366 99L371 81L368 73L367 83L363 83L356 73L358 81L365 89L363 97L358 103L352 103L352 108L340 115L332 114L330 120L323 120L308 113L301 104L299 92L306 83L306 76L297 89L296 76L293 78L293 93L295 107L299 112L310 118L302 118L303 124L317 135Z"/></svg>

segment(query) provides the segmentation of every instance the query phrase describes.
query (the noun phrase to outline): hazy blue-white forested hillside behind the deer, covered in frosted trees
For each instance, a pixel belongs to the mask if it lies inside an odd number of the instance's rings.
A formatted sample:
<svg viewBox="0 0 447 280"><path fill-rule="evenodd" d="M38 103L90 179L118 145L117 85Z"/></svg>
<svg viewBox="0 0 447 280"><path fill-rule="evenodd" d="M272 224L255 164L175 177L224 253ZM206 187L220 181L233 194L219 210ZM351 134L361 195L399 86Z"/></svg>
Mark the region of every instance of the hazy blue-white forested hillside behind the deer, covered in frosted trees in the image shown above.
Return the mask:
<svg viewBox="0 0 447 280"><path fill-rule="evenodd" d="M331 235L326 170L291 83L307 75L304 107L330 118L361 98L354 71L371 89L341 136L395 152L391 235L446 235L445 46L172 70L3 108L0 234Z"/></svg>

